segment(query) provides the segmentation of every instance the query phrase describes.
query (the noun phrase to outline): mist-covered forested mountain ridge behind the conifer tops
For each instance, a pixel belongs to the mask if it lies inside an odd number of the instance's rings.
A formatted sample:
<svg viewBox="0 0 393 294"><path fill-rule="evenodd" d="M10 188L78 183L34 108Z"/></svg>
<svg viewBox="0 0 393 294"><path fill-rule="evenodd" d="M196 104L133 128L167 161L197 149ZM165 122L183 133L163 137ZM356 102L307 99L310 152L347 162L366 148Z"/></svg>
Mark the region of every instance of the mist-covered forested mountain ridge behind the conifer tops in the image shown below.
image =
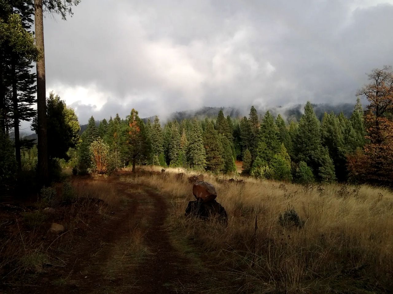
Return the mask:
<svg viewBox="0 0 393 294"><path fill-rule="evenodd" d="M274 117L277 117L278 114L281 114L283 118L289 123L290 120L294 119L298 121L303 114L305 104L295 104L289 106L276 106L276 107L255 107L259 113L259 117L263 117L266 111L270 111ZM353 112L353 103L341 103L341 104L328 104L328 103L320 103L320 104L312 104L314 107L314 111L316 116L319 120L322 120L323 114L325 112L331 113L332 111L335 114L340 114L341 112L344 114L345 117L349 118ZM167 122L168 120L177 120L182 121L184 119L191 119L191 118L216 118L219 111L222 110L224 115L229 115L231 118L242 118L243 116L248 117L248 112L250 111L251 106L248 108L248 111L242 110L235 107L201 107L197 110L188 110L188 111L176 111L168 116L167 120L162 121L162 123ZM153 121L155 116L150 116L147 118L143 118L142 120L146 123L148 119ZM95 121L95 125L98 127L100 121ZM80 134L84 132L87 128L87 123L81 125ZM37 134L30 134L26 137L26 139L37 139Z"/></svg>

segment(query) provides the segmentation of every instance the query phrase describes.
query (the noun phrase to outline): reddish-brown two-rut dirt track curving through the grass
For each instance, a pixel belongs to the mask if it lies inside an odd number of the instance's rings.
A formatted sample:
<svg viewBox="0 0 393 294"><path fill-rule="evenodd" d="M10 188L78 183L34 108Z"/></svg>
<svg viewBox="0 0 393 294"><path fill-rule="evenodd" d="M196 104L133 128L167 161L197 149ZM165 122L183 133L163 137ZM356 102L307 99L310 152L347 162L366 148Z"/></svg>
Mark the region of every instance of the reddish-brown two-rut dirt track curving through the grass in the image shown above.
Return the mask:
<svg viewBox="0 0 393 294"><path fill-rule="evenodd" d="M44 287L46 292L195 292L192 281L198 280L198 273L189 269L190 261L171 244L164 226L168 204L163 196L128 183L119 182L118 189L127 199L125 207L77 245L75 255L59 272L64 284L53 287L52 283Z"/></svg>

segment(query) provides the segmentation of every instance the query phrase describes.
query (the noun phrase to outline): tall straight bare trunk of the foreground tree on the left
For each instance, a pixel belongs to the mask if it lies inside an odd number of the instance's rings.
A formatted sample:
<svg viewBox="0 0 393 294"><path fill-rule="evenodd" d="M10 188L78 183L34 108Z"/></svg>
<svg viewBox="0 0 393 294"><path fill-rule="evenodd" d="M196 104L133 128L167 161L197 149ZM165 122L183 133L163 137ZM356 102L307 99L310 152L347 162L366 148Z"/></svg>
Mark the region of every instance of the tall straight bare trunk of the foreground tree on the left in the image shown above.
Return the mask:
<svg viewBox="0 0 393 294"><path fill-rule="evenodd" d="M42 0L34 0L35 45L40 52L37 60L37 135L38 135L38 176L40 184L46 185L48 172L48 135L46 128L46 85L44 22L42 19Z"/></svg>

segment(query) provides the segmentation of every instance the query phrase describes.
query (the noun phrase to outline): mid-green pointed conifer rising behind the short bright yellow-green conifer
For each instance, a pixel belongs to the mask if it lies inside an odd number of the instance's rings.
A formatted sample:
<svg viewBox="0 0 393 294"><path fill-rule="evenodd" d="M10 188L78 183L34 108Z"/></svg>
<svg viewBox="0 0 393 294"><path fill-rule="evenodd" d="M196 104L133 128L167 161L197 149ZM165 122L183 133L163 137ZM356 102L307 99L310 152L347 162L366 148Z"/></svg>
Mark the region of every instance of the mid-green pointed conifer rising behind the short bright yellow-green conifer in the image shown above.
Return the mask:
<svg viewBox="0 0 393 294"><path fill-rule="evenodd" d="M270 163L274 154L280 150L278 131L274 124L273 116L269 111L263 117L259 131L257 156L266 163Z"/></svg>

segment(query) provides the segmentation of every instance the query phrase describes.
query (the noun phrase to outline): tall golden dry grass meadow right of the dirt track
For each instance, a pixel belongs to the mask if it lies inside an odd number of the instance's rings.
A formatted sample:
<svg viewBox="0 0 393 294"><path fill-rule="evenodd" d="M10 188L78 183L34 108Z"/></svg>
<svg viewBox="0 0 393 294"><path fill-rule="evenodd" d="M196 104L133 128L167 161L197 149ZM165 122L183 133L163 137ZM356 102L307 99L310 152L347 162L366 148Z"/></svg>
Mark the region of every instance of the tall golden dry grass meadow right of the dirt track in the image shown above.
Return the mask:
<svg viewBox="0 0 393 294"><path fill-rule="evenodd" d="M244 179L217 181L228 227L187 220L194 200L187 174L178 169L125 180L153 186L169 197L171 227L235 273L240 290L259 293L356 293L393 289L393 194L366 185L301 186ZM180 171L186 173L186 171ZM293 207L303 228L282 227ZM257 230L255 231L255 218Z"/></svg>

